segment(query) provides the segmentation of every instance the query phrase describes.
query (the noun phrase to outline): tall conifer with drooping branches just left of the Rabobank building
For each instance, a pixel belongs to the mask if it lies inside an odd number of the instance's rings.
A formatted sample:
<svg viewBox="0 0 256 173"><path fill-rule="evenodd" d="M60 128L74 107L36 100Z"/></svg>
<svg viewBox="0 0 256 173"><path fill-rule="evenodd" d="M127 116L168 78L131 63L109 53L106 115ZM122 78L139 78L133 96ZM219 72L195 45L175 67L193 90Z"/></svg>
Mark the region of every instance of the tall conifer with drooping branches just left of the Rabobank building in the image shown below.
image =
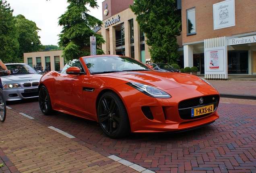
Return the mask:
<svg viewBox="0 0 256 173"><path fill-rule="evenodd" d="M69 6L67 11L59 18L59 25L63 26L60 41L60 48L63 50L63 57L66 60L90 55L90 36L96 36L97 46L105 43L102 35L96 34L92 28L101 26L101 20L87 14L91 8L98 8L95 0L67 0ZM97 54L104 54L103 50L97 48Z"/></svg>

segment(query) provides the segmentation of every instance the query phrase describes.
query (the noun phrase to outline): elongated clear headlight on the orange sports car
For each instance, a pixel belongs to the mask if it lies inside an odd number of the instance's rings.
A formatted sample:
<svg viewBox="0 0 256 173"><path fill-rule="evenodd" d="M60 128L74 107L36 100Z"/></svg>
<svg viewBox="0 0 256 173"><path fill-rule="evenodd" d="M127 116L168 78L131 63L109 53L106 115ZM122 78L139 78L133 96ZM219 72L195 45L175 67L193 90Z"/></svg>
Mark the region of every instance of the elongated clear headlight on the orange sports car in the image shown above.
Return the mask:
<svg viewBox="0 0 256 173"><path fill-rule="evenodd" d="M138 91L144 93L145 95L148 95L150 97L155 97L155 98L171 98L171 96L164 91L161 91L155 87L152 87L147 84L141 84L141 83L127 83L131 87L137 89Z"/></svg>

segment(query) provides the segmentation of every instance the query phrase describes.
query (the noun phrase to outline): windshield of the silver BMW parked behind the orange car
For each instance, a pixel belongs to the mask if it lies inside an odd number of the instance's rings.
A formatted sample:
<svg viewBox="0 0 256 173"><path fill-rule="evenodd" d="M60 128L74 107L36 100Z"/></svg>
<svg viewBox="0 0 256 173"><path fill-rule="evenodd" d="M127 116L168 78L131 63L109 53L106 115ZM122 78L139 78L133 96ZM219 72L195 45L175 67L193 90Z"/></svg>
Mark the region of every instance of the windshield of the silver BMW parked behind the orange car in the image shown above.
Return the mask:
<svg viewBox="0 0 256 173"><path fill-rule="evenodd" d="M10 70L10 75L16 74L37 74L37 72L28 64L5 64L7 69ZM1 73L1 76L6 74Z"/></svg>

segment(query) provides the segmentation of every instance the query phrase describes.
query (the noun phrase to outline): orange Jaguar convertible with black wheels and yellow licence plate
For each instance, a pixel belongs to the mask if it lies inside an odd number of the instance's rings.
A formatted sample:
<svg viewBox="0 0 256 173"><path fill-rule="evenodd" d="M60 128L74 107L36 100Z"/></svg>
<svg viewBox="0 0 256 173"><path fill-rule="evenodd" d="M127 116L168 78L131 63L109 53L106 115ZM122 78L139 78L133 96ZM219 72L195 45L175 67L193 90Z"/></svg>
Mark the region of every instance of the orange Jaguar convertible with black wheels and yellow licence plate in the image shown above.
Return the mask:
<svg viewBox="0 0 256 173"><path fill-rule="evenodd" d="M58 111L97 121L119 138L130 132L185 131L219 118L220 95L206 80L157 72L127 56L86 56L39 82L43 114Z"/></svg>

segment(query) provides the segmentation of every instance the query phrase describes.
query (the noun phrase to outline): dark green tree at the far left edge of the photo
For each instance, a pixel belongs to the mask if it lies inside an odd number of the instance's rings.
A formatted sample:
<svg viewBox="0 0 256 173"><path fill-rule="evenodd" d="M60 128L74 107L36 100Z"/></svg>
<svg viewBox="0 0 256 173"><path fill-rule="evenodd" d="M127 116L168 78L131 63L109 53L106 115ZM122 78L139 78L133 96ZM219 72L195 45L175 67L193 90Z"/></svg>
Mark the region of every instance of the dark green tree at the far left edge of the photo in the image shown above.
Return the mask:
<svg viewBox="0 0 256 173"><path fill-rule="evenodd" d="M5 0L0 0L0 58L3 62L17 62L18 34L14 25L13 10Z"/></svg>

